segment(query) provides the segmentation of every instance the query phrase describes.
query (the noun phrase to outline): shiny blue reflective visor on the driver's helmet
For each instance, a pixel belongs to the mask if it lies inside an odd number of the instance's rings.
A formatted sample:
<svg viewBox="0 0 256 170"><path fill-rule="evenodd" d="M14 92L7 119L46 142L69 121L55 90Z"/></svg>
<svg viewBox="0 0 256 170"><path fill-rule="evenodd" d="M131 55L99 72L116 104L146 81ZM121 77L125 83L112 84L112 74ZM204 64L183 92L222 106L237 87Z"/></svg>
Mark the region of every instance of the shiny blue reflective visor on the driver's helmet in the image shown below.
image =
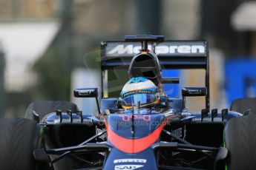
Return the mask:
<svg viewBox="0 0 256 170"><path fill-rule="evenodd" d="M122 105L134 106L134 105L137 105L138 101L140 101L140 104L153 103L154 101L157 101L157 97L154 94L144 94L144 93L128 95L125 98L122 98Z"/></svg>

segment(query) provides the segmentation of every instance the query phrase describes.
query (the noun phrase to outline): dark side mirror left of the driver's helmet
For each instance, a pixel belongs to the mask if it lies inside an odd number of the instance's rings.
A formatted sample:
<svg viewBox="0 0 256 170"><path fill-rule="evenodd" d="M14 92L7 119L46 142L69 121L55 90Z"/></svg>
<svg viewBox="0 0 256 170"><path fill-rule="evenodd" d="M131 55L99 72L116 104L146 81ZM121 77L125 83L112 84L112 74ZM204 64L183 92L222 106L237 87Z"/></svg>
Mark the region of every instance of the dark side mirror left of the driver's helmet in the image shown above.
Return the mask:
<svg viewBox="0 0 256 170"><path fill-rule="evenodd" d="M74 89L73 95L76 98L98 98L98 88Z"/></svg>

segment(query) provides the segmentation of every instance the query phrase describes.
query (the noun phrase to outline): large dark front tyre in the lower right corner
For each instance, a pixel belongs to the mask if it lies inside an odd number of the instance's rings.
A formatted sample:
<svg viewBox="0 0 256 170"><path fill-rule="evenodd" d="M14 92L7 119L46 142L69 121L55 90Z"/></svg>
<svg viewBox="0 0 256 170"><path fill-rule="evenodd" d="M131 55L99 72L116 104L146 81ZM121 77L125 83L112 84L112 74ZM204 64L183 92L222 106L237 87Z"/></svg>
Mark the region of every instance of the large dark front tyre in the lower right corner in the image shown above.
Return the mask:
<svg viewBox="0 0 256 170"><path fill-rule="evenodd" d="M232 118L224 129L224 144L229 149L228 169L256 168L256 115Z"/></svg>

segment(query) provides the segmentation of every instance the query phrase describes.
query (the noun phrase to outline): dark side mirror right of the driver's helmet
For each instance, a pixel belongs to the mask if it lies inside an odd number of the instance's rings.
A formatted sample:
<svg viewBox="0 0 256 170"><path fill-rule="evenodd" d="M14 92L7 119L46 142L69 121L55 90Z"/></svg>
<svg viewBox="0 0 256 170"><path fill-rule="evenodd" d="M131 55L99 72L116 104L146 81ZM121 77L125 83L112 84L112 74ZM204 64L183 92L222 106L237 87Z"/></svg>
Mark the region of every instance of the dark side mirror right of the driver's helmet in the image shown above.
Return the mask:
<svg viewBox="0 0 256 170"><path fill-rule="evenodd" d="M183 87L182 95L183 97L189 96L206 96L206 87Z"/></svg>

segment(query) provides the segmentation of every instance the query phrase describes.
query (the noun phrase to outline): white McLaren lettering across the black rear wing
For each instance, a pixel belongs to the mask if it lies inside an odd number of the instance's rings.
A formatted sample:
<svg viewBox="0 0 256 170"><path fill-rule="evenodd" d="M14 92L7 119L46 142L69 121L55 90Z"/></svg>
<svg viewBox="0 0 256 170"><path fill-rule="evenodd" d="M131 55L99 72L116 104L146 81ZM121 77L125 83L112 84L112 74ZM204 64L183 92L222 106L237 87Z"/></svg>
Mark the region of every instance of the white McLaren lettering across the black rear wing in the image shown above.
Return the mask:
<svg viewBox="0 0 256 170"><path fill-rule="evenodd" d="M113 49L108 51L109 55L114 54L136 54L140 52L140 46L128 45L116 45ZM148 46L148 50L151 50L151 45ZM206 49L203 45L160 45L155 47L155 53L158 54L204 54Z"/></svg>

